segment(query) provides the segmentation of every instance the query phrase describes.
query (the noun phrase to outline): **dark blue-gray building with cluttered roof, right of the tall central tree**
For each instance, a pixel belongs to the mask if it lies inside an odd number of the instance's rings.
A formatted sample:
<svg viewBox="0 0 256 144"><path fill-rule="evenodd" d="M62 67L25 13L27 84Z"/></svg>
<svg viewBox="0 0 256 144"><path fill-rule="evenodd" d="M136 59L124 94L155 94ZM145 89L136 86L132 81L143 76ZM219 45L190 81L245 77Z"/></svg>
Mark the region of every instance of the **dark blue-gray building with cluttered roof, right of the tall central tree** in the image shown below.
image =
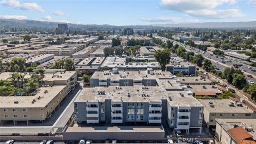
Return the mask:
<svg viewBox="0 0 256 144"><path fill-rule="evenodd" d="M166 71L170 71L172 74L195 75L196 66L179 57L172 57L170 63L166 65Z"/></svg>

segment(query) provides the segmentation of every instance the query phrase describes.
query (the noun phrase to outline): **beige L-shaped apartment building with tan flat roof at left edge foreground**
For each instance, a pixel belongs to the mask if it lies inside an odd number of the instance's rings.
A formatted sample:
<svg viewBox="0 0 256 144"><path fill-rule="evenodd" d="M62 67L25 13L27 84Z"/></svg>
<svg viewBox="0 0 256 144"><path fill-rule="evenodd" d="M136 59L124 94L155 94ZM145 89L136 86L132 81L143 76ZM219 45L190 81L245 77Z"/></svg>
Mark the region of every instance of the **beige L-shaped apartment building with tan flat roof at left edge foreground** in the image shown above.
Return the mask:
<svg viewBox="0 0 256 144"><path fill-rule="evenodd" d="M0 97L0 122L44 121L68 94L66 85L40 87L32 96Z"/></svg>

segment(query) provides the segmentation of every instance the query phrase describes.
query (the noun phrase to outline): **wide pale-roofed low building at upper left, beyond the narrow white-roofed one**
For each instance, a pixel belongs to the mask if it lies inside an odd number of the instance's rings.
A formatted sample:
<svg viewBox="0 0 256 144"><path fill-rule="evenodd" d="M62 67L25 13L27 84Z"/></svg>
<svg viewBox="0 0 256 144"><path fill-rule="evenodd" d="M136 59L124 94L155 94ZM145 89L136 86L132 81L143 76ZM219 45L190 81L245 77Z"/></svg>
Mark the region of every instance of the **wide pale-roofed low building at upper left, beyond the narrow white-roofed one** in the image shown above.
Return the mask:
<svg viewBox="0 0 256 144"><path fill-rule="evenodd" d="M44 47L39 50L40 54L54 54L55 56L71 56L83 50L86 44L62 44Z"/></svg>

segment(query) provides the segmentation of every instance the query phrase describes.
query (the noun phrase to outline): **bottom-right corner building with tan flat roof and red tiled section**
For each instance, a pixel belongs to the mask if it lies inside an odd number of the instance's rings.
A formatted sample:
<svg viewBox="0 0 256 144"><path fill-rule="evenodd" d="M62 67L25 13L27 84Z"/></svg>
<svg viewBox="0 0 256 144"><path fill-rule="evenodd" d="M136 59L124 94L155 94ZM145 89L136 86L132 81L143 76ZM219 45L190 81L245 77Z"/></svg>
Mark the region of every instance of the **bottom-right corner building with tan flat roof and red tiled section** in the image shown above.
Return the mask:
<svg viewBox="0 0 256 144"><path fill-rule="evenodd" d="M256 119L216 119L216 137L223 144L255 144Z"/></svg>

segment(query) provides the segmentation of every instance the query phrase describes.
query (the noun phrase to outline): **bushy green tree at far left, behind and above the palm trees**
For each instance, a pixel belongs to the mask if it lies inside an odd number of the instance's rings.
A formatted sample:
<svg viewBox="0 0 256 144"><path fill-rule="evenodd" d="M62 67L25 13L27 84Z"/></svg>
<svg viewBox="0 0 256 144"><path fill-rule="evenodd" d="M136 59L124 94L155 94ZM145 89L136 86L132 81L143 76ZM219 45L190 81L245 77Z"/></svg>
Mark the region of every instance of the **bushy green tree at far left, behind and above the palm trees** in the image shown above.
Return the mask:
<svg viewBox="0 0 256 144"><path fill-rule="evenodd" d="M23 72L26 70L26 60L22 58L13 58L7 65L9 72Z"/></svg>

